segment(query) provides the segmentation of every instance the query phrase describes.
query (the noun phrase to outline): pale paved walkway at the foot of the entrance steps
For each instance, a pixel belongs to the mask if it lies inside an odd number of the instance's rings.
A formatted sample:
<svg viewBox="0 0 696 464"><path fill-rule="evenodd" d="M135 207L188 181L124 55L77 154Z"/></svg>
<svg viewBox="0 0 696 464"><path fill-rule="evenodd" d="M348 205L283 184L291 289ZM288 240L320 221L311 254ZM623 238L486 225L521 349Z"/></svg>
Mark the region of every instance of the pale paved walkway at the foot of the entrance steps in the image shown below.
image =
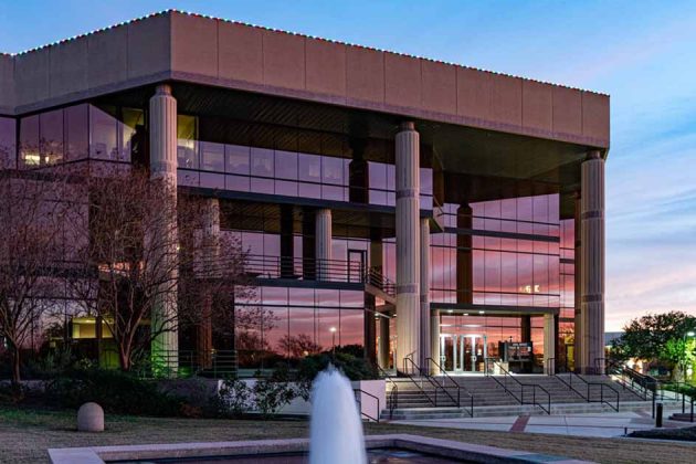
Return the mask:
<svg viewBox="0 0 696 464"><path fill-rule="evenodd" d="M665 411L663 426L693 425L666 420L676 410ZM681 412L681 410L678 411ZM655 428L651 411L608 412L567 415L513 415L505 418L423 419L392 421L398 424L447 429L493 430L516 433L552 433L571 436L623 436L626 432Z"/></svg>

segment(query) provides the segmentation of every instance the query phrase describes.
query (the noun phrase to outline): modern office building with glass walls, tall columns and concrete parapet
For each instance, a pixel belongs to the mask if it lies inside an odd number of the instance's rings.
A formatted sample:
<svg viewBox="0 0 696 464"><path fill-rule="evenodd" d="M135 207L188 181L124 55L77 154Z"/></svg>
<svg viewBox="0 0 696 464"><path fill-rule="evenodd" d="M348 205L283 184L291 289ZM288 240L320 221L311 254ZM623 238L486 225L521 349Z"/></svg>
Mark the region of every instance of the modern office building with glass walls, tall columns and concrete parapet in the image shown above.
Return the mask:
<svg viewBox="0 0 696 464"><path fill-rule="evenodd" d="M205 341L240 372L336 348L601 368L607 95L166 11L1 55L0 115L6 166L143 165L208 199L256 286Z"/></svg>

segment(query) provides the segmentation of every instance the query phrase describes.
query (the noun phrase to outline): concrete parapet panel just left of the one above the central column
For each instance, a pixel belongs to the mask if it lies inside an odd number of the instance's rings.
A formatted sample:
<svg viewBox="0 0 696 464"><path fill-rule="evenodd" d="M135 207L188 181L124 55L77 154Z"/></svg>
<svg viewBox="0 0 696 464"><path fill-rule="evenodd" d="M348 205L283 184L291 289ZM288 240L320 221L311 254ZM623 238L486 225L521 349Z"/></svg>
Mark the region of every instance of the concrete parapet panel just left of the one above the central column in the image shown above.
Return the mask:
<svg viewBox="0 0 696 464"><path fill-rule="evenodd" d="M361 46L346 50L346 96L384 102L384 54Z"/></svg>

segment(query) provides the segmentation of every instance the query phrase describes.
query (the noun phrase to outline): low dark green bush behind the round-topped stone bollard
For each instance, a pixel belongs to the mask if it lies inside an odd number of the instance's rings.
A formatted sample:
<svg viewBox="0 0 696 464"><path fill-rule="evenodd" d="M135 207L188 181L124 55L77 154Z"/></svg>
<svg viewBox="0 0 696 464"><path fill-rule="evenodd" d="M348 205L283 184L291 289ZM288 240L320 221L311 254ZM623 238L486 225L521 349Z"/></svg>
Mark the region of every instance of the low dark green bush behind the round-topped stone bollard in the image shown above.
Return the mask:
<svg viewBox="0 0 696 464"><path fill-rule="evenodd" d="M46 386L46 400L63 408L80 408L93 401L106 412L118 414L176 416L186 402L164 393L152 382L107 369L73 369Z"/></svg>

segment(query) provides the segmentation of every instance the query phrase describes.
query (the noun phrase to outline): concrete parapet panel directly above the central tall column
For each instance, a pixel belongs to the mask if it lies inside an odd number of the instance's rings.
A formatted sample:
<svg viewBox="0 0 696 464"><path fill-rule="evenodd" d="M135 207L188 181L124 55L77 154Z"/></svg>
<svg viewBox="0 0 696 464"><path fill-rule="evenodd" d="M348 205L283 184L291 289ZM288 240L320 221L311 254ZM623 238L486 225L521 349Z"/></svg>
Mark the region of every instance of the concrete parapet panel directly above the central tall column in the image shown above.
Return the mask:
<svg viewBox="0 0 696 464"><path fill-rule="evenodd" d="M384 53L384 103L412 108L421 106L421 61Z"/></svg>

